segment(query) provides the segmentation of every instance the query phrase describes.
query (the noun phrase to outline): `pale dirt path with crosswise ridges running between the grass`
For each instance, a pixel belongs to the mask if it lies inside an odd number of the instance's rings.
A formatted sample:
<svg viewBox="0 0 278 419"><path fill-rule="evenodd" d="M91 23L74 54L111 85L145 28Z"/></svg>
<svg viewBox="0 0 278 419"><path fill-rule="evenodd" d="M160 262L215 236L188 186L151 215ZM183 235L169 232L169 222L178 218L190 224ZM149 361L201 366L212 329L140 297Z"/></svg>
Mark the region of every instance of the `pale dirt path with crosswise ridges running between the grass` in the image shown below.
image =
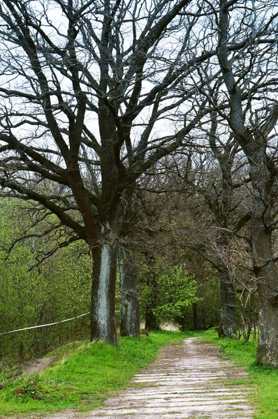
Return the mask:
<svg viewBox="0 0 278 419"><path fill-rule="evenodd" d="M251 419L247 374L196 338L168 346L131 387L96 411L66 411L44 419ZM42 418L42 416L40 416Z"/></svg>

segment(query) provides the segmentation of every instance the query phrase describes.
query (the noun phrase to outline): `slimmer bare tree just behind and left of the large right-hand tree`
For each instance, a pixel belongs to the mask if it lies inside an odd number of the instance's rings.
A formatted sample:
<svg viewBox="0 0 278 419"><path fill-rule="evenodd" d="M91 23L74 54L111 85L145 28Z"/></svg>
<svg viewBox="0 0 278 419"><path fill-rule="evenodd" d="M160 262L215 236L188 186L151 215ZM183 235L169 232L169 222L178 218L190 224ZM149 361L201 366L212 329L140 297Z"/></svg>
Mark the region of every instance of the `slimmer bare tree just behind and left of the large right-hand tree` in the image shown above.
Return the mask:
<svg viewBox="0 0 278 419"><path fill-rule="evenodd" d="M233 235L238 233L250 219L250 213L240 209L240 197L236 197L235 190L240 188L244 179L235 182L238 163L236 156L239 146L235 141L233 132L226 132L226 127L221 126L217 118L217 111L210 114L211 128L207 133L212 156L219 166L219 179L214 182L214 193L207 191L205 201L214 214L214 223L211 228L217 228L217 248L233 249ZM248 180L248 179L247 179ZM209 249L208 249L209 251ZM212 256L213 258L213 256ZM217 268L220 277L221 289L221 333L226 337L236 336L236 302L235 284L226 263L223 263L219 249L214 255L214 267Z"/></svg>

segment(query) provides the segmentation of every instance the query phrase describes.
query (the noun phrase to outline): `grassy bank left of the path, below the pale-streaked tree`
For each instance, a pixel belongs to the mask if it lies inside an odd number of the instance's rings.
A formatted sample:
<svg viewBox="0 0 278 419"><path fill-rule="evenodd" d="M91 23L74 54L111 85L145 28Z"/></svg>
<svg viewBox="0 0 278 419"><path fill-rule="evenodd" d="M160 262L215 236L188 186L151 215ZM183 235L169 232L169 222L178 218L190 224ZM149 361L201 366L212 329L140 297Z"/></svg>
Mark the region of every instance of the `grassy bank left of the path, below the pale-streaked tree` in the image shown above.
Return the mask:
<svg viewBox="0 0 278 419"><path fill-rule="evenodd" d="M0 416L75 407L94 409L128 385L133 374L156 358L160 348L179 344L189 335L192 333L163 331L140 339L121 338L118 348L103 342L62 346L48 354L57 355L53 366L22 376L0 391Z"/></svg>

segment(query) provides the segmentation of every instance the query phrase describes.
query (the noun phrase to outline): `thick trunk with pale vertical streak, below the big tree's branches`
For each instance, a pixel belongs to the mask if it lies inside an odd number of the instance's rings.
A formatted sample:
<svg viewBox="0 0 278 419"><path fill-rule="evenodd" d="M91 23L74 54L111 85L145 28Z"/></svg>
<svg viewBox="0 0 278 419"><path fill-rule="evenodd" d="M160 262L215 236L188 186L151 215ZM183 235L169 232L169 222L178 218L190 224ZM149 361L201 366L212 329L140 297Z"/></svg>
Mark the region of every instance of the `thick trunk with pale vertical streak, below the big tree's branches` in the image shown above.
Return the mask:
<svg viewBox="0 0 278 419"><path fill-rule="evenodd" d="M92 249L91 340L98 339L117 346L115 319L115 284L117 249L102 244Z"/></svg>

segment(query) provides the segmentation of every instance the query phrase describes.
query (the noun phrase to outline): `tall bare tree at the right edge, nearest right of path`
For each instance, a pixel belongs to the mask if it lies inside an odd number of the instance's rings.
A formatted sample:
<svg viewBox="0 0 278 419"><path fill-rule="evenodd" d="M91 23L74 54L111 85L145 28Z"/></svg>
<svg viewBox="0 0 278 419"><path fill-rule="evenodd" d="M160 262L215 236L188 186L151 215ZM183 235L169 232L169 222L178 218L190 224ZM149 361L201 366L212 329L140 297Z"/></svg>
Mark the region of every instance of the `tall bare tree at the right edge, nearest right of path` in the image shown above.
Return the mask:
<svg viewBox="0 0 278 419"><path fill-rule="evenodd" d="M277 367L278 283L272 231L277 225L278 13L272 1L220 0L211 7L224 80L214 108L230 126L250 168L251 247L260 302L257 359ZM240 40L241 50L231 52ZM210 71L215 71L215 62L211 64ZM204 78L210 71L203 68ZM209 98L209 91L203 93Z"/></svg>

